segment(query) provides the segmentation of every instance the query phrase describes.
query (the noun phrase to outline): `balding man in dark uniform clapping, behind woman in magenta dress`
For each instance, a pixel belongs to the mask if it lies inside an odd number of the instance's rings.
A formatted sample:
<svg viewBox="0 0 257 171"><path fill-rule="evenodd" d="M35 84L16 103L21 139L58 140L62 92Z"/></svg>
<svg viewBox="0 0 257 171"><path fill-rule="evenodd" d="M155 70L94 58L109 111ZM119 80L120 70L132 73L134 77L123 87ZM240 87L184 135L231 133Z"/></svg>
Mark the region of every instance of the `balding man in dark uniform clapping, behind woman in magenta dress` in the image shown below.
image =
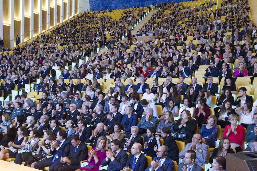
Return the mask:
<svg viewBox="0 0 257 171"><path fill-rule="evenodd" d="M96 129L93 130L92 135L86 140L92 147L97 145L99 137L108 135L108 133L104 131L104 126L105 125L102 122L98 123Z"/></svg>

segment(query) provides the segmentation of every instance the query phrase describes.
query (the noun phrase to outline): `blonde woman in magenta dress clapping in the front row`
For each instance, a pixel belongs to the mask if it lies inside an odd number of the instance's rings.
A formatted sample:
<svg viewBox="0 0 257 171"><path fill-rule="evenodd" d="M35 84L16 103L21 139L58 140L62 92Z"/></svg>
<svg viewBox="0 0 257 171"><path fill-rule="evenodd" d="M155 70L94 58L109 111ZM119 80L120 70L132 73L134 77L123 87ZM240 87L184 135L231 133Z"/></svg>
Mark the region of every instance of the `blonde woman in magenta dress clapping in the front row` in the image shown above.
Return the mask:
<svg viewBox="0 0 257 171"><path fill-rule="evenodd" d="M97 146L93 147L92 150L88 152L88 165L78 168L75 171L99 171L99 166L101 165L102 160L106 158L106 151L106 139L105 137L99 137L97 140Z"/></svg>

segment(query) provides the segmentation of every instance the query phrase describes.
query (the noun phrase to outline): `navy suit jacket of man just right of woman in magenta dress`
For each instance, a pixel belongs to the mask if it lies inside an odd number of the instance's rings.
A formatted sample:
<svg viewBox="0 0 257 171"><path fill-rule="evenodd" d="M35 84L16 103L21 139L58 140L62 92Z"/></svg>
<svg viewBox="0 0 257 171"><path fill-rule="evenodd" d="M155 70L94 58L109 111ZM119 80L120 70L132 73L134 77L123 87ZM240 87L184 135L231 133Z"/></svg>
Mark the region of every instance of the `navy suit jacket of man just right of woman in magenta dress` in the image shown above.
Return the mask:
<svg viewBox="0 0 257 171"><path fill-rule="evenodd" d="M103 159L102 165L105 166L108 164L107 171L120 171L123 170L123 168L125 167L127 160L127 152L121 149L117 156L115 156L113 162L110 159L108 161L106 161L106 159Z"/></svg>

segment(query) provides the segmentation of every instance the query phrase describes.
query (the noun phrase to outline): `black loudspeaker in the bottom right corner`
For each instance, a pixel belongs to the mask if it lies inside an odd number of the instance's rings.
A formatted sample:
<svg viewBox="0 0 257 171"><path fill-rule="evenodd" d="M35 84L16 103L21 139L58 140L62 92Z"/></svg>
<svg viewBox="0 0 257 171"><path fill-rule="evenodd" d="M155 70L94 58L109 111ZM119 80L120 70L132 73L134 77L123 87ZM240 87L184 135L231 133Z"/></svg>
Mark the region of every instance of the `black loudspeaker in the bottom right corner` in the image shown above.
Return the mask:
<svg viewBox="0 0 257 171"><path fill-rule="evenodd" d="M228 153L226 171L256 171L257 152Z"/></svg>

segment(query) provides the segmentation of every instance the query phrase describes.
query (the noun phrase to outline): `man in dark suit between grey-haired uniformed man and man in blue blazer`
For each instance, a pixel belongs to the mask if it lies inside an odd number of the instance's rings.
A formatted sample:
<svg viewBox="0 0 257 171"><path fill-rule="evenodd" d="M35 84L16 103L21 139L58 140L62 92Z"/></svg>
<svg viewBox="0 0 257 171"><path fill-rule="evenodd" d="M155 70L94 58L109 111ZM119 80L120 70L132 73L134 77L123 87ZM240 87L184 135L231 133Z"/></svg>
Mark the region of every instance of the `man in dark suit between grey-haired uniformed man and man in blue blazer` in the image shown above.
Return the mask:
<svg viewBox="0 0 257 171"><path fill-rule="evenodd" d="M116 122L121 123L122 114L118 112L119 105L113 104L111 105L111 111L107 114L107 117L104 121L105 124L105 131L109 132L109 134L113 133L113 128Z"/></svg>

